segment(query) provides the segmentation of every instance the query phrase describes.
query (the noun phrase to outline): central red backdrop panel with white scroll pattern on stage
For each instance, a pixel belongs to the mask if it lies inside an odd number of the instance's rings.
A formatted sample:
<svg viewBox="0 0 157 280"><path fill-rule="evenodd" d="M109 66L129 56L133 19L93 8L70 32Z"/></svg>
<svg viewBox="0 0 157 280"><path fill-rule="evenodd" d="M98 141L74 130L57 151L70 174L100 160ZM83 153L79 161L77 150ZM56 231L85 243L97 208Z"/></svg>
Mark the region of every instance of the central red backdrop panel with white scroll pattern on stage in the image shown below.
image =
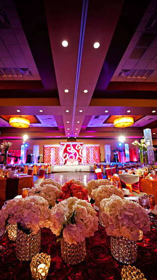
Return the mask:
<svg viewBox="0 0 157 280"><path fill-rule="evenodd" d="M83 142L60 142L60 145L63 164L72 160L76 160L78 163L82 164Z"/></svg>

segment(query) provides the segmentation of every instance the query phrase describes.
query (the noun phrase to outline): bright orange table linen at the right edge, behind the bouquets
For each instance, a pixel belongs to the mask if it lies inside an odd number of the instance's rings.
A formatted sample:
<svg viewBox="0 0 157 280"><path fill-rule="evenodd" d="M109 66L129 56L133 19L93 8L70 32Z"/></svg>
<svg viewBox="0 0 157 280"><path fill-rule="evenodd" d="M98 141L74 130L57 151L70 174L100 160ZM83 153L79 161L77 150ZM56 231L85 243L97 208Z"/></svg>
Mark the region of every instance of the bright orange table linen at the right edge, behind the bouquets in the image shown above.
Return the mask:
<svg viewBox="0 0 157 280"><path fill-rule="evenodd" d="M141 187L143 192L154 195L155 203L157 204L157 179L147 180L143 178L141 179Z"/></svg>

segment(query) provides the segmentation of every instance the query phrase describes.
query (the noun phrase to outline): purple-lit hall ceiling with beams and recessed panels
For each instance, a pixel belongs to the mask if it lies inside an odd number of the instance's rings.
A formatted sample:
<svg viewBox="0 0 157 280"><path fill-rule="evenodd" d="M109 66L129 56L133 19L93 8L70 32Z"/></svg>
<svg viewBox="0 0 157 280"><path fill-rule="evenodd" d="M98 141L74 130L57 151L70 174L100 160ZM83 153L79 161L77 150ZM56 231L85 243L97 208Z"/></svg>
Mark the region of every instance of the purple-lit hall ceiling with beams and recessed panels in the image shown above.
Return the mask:
<svg viewBox="0 0 157 280"><path fill-rule="evenodd" d="M30 127L11 127L15 115ZM115 128L120 116L134 125ZM156 0L0 0L1 139L138 139L144 128L156 138Z"/></svg>

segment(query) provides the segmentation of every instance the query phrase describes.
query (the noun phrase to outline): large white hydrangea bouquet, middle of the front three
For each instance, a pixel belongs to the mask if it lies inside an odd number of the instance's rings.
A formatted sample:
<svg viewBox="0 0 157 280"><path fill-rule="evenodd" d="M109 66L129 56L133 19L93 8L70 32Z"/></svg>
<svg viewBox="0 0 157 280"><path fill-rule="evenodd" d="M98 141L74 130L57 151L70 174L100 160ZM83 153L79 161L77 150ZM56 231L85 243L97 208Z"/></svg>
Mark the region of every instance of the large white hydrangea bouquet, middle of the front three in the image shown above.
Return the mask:
<svg viewBox="0 0 157 280"><path fill-rule="evenodd" d="M64 237L67 243L76 244L94 235L98 230L98 217L90 203L70 197L51 210L50 229L58 236L58 241Z"/></svg>

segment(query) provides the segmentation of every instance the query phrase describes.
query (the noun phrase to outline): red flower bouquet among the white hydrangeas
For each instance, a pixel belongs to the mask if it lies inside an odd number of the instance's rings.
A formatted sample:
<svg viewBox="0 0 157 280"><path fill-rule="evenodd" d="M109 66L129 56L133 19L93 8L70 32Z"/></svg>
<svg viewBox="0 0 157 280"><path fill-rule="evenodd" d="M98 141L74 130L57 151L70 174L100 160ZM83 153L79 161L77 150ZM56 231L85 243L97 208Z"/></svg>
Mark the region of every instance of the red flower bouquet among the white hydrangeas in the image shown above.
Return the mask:
<svg viewBox="0 0 157 280"><path fill-rule="evenodd" d="M74 179L64 183L64 185L61 187L59 198L67 199L69 197L75 196L79 199L84 199L88 191L81 185L76 184L76 182L81 183L81 181L75 181Z"/></svg>

